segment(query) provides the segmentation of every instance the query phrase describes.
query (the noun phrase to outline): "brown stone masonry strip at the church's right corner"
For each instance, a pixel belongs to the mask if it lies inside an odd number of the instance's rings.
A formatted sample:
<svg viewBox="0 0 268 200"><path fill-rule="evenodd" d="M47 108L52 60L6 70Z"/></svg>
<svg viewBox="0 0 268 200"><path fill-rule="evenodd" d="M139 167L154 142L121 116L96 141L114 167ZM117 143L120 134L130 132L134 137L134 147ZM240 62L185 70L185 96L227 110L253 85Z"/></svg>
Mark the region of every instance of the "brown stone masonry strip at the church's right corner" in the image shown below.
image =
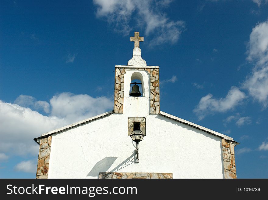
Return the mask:
<svg viewBox="0 0 268 200"><path fill-rule="evenodd" d="M236 168L234 161L234 143L224 138L221 140L222 145L222 157L224 166L224 178L235 179Z"/></svg>

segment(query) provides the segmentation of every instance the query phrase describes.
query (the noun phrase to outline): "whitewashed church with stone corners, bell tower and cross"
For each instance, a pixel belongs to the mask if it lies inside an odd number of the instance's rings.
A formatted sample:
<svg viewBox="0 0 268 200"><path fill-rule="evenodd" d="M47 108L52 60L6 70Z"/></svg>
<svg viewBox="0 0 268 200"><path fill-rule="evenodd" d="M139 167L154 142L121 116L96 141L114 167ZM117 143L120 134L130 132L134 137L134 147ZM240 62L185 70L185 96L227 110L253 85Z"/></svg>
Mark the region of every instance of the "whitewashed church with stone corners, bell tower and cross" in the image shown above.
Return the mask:
<svg viewBox="0 0 268 200"><path fill-rule="evenodd" d="M34 138L36 178L236 178L233 138L160 110L159 66L115 65L112 111Z"/></svg>

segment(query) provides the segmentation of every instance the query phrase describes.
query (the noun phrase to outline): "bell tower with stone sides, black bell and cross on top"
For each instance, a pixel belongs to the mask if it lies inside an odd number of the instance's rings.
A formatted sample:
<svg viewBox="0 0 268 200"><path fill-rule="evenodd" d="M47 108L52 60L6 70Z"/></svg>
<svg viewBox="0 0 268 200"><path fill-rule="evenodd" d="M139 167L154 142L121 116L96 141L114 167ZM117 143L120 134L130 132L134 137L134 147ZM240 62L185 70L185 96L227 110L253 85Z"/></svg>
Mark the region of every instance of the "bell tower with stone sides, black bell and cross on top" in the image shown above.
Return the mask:
<svg viewBox="0 0 268 200"><path fill-rule="evenodd" d="M159 66L147 66L142 59L139 42L143 40L135 32L130 37L134 42L133 57L128 65L115 65L114 113L139 118L160 112Z"/></svg>

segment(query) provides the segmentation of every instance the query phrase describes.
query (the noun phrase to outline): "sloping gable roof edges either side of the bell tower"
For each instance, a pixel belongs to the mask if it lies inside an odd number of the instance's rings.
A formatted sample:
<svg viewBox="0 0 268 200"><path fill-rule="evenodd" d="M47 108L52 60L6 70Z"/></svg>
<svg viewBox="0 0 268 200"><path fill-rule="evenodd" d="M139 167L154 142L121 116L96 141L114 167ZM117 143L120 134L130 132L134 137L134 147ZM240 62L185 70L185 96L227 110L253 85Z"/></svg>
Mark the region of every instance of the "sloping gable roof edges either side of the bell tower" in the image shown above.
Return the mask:
<svg viewBox="0 0 268 200"><path fill-rule="evenodd" d="M55 134L55 133L60 133L60 132L62 132L62 131L71 129L71 128L73 128L73 127L76 127L76 126L83 125L83 124L85 124L85 123L94 121L94 120L96 120L96 119L106 117L106 116L111 115L111 114L113 114L113 113L114 113L113 110L112 110L112 111L109 111L109 112L105 112L105 113L103 113L103 114L101 114L101 115L97 115L97 116L94 116L94 117L91 117L91 118L82 120L82 121L80 121L80 122L76 122L76 123L73 123L73 124L64 126L64 127L62 127L62 128L59 128L59 129L55 129L55 130L49 131L49 132L47 132L47 133L43 133L40 137L33 138L33 140L34 140L35 142L37 142L37 144L39 144L39 139L41 139L41 138L44 138L44 137L47 137L47 136L51 136L51 135L53 135L53 134ZM218 132L213 131L213 130L211 130L211 129L207 129L207 128L203 127L203 126L200 126L200 125L194 124L194 123L192 123L192 122L186 121L186 120L184 120L184 119L178 118L178 117L176 117L176 116L170 115L170 114L165 113L165 112L163 112L163 111L160 111L160 113L159 113L158 115L162 115L162 116L164 116L164 117L173 119L173 120L175 120L175 121L177 121L177 122L180 122L180 123L189 125L189 126L191 126L191 127L193 127L193 128L196 128L196 129L205 131L206 133L210 133L210 134L215 135L215 136L218 136L218 137L220 137L220 138L224 138L225 140L233 141L233 142L235 143L235 145L236 145L236 144L239 144L238 142L234 141L232 137L229 137L229 136L226 136L226 135L224 135L224 134L218 133Z"/></svg>

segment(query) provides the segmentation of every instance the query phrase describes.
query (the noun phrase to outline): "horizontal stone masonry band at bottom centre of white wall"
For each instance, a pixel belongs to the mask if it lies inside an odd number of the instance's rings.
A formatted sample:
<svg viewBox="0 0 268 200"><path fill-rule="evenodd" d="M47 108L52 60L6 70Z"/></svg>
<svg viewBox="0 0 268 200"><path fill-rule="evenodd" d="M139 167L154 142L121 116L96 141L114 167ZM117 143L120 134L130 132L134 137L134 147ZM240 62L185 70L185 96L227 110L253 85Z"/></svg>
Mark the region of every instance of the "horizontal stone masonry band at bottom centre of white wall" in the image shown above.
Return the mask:
<svg viewBox="0 0 268 200"><path fill-rule="evenodd" d="M99 179L172 179L172 173L99 173Z"/></svg>

